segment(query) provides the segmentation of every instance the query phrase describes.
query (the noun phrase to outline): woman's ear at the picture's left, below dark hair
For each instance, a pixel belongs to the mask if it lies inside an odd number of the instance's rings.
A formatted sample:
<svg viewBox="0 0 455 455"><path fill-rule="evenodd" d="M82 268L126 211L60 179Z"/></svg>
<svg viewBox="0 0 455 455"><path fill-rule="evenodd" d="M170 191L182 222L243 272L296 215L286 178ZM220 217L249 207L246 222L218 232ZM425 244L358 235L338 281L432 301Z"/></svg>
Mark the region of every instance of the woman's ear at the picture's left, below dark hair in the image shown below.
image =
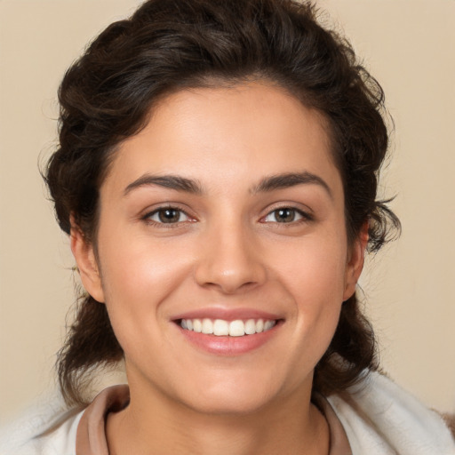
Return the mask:
<svg viewBox="0 0 455 455"><path fill-rule="evenodd" d="M93 299L104 302L104 292L101 285L100 268L93 251L92 243L88 243L71 217L71 251L76 259L81 281Z"/></svg>

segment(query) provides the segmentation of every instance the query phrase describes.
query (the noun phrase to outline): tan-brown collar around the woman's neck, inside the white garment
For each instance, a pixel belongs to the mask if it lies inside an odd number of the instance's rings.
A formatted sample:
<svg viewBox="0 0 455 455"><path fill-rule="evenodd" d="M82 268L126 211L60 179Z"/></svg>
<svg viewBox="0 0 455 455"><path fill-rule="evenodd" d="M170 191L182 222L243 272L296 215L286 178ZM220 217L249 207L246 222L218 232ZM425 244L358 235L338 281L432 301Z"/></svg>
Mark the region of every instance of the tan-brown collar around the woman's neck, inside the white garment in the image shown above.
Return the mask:
<svg viewBox="0 0 455 455"><path fill-rule="evenodd" d="M84 411L77 427L76 455L108 455L106 419L109 412L123 410L130 401L126 385L108 387L97 395ZM330 428L329 455L352 455L345 430L323 396L316 397L317 407L323 412Z"/></svg>

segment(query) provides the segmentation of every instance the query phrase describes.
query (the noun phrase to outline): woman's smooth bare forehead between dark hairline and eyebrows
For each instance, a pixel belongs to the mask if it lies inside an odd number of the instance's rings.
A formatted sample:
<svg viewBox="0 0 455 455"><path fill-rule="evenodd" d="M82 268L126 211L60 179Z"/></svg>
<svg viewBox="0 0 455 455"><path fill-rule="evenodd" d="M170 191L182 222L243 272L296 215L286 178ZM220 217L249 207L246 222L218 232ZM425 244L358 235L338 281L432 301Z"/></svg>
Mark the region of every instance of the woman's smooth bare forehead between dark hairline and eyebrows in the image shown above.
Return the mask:
<svg viewBox="0 0 455 455"><path fill-rule="evenodd" d="M339 180L323 116L279 87L249 83L165 97L117 149L105 183L153 172L250 188L266 174L304 171Z"/></svg>

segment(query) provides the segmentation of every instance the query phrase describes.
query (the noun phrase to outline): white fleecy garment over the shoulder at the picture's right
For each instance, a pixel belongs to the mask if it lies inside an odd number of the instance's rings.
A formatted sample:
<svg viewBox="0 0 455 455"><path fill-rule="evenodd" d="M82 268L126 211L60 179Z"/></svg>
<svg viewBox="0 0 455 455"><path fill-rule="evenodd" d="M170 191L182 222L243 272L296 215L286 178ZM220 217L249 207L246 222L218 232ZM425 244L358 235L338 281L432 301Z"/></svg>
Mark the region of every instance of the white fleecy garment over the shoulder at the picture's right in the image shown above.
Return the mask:
<svg viewBox="0 0 455 455"><path fill-rule="evenodd" d="M355 455L455 455L443 418L378 372L328 401Z"/></svg>

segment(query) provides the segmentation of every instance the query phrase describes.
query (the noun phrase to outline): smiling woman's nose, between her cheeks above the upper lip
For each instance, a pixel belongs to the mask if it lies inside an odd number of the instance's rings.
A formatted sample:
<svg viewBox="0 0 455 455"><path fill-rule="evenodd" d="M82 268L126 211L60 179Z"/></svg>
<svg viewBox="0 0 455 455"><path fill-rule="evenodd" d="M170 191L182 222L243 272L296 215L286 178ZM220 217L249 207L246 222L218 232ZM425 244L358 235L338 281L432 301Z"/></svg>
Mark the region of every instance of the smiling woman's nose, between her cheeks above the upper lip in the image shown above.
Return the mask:
<svg viewBox="0 0 455 455"><path fill-rule="evenodd" d="M224 294L250 290L266 280L267 269L254 234L241 223L218 224L201 240L196 283Z"/></svg>

